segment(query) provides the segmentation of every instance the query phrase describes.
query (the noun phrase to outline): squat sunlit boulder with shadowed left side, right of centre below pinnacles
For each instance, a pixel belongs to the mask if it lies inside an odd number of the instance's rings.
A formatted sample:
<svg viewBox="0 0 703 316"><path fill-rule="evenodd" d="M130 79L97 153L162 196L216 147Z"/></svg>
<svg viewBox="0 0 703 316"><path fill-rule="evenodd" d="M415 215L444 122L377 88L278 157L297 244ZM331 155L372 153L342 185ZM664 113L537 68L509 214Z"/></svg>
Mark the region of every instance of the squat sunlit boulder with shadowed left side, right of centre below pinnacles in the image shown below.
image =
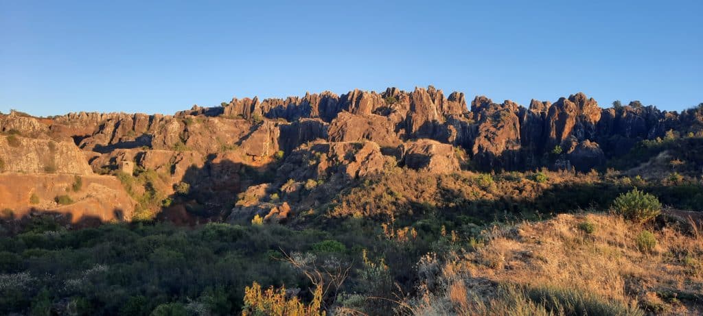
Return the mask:
<svg viewBox="0 0 703 316"><path fill-rule="evenodd" d="M437 140L421 139L401 146L403 162L408 168L430 173L451 173L459 171L459 161L454 147Z"/></svg>

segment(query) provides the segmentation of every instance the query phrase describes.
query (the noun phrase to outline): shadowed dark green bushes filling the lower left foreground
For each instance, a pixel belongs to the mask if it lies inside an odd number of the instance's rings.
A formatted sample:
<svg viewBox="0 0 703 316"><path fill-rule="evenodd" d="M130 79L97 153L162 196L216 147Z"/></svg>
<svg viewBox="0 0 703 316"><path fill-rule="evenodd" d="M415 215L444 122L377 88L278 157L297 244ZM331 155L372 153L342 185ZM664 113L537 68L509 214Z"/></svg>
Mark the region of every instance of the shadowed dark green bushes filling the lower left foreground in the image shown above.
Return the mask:
<svg viewBox="0 0 703 316"><path fill-rule="evenodd" d="M305 251L327 238L276 225L212 223L189 230L134 223L65 230L44 223L0 239L0 314L48 306L65 314L78 308L89 315L183 309L237 315L254 280L265 287L314 288L274 257L280 249ZM311 299L302 295L302 301Z"/></svg>

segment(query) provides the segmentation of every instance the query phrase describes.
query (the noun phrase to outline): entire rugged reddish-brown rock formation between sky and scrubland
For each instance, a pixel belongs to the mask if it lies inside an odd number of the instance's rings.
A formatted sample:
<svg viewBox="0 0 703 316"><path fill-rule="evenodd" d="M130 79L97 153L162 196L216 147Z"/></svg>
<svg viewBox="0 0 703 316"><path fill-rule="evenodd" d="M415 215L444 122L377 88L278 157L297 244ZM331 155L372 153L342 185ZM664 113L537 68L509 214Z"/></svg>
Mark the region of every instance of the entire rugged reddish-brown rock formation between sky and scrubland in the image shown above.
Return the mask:
<svg viewBox="0 0 703 316"><path fill-rule="evenodd" d="M61 204L59 192L49 187L70 187L80 177L91 179L94 194L70 195L101 220L159 209L160 216L193 221L184 214L224 219L264 202L299 211L388 165L429 173L545 167L585 172L641 140L703 133L701 108L681 114L638 102L603 108L583 93L527 106L485 96L467 104L464 93L445 96L429 86L233 98L174 115L37 118L11 112L0 115L0 176L24 189L6 190L0 209L21 216L76 208ZM114 185L115 177L122 186ZM32 196L34 191L41 194ZM101 195L118 201L119 212L90 203ZM249 202L231 209L243 200ZM81 216L91 216L84 209Z"/></svg>

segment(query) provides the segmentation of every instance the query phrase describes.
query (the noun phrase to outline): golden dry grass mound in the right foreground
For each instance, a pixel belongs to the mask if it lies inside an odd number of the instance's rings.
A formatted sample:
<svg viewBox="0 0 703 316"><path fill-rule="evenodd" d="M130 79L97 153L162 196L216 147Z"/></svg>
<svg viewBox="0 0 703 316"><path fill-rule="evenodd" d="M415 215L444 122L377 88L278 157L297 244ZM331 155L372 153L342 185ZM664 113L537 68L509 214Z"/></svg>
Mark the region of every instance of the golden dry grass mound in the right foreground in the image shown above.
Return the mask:
<svg viewBox="0 0 703 316"><path fill-rule="evenodd" d="M593 232L579 229L586 221ZM657 239L651 253L636 244L645 229ZM605 214L494 229L482 248L444 264L439 283L445 286L427 294L415 313L699 315L703 234L700 224L683 231Z"/></svg>

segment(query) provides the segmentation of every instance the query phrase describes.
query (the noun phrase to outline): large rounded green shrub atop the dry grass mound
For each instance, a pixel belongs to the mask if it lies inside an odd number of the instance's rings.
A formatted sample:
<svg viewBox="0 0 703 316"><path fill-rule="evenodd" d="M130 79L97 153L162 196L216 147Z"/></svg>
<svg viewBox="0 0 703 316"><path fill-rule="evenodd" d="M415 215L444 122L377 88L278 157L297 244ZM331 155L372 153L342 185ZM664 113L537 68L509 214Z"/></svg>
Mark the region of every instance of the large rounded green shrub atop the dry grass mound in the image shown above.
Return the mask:
<svg viewBox="0 0 703 316"><path fill-rule="evenodd" d="M662 204L654 195L633 189L619 195L612 203L612 211L637 223L645 223L657 217Z"/></svg>

